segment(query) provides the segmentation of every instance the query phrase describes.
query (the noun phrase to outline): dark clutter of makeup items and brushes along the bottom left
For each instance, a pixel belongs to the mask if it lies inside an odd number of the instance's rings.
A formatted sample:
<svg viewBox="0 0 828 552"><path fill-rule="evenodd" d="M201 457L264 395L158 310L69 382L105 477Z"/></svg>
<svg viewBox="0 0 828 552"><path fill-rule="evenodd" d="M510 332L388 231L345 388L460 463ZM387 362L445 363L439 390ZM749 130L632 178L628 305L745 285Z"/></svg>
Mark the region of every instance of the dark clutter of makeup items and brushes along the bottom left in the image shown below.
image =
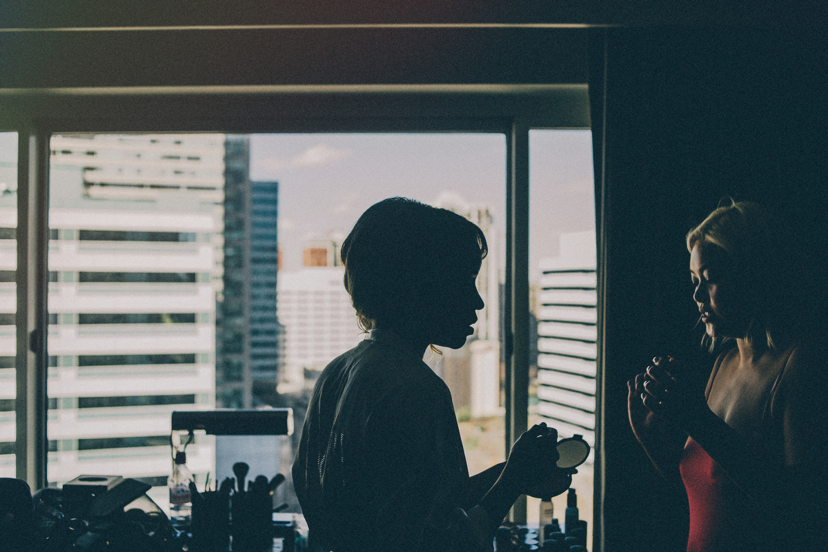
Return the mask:
<svg viewBox="0 0 828 552"><path fill-rule="evenodd" d="M180 470L185 471L185 470ZM147 483L112 475L81 475L63 488L34 495L25 481L0 478L0 552L301 552L301 516L277 513L277 473L236 478L186 495L171 493L171 515L148 497ZM171 478L172 479L172 478ZM171 488L172 491L172 488Z"/></svg>

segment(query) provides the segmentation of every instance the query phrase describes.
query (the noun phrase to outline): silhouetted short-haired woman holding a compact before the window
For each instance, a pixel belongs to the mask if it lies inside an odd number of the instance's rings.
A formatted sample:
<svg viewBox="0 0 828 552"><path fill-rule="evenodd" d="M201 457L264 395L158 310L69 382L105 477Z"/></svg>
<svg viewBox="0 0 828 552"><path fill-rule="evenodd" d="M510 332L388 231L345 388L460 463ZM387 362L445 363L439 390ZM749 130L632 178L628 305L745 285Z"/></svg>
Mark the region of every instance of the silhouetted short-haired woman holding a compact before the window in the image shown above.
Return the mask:
<svg viewBox="0 0 828 552"><path fill-rule="evenodd" d="M449 389L422 361L472 334L486 247L465 218L402 197L368 208L344 240L345 287L369 333L316 382L293 468L325 550L490 552L520 494L568 487L544 425L469 478Z"/></svg>

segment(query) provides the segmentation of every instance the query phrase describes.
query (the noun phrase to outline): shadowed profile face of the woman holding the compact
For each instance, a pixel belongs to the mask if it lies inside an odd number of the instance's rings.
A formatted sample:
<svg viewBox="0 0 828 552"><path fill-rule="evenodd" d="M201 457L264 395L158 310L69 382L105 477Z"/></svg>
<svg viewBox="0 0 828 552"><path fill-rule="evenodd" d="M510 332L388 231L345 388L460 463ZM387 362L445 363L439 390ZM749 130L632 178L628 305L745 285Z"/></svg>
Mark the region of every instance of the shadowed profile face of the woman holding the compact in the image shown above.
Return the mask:
<svg viewBox="0 0 828 552"><path fill-rule="evenodd" d="M428 307L428 342L432 345L460 349L474 333L472 324L484 307L477 291L477 274L453 274L437 283Z"/></svg>

